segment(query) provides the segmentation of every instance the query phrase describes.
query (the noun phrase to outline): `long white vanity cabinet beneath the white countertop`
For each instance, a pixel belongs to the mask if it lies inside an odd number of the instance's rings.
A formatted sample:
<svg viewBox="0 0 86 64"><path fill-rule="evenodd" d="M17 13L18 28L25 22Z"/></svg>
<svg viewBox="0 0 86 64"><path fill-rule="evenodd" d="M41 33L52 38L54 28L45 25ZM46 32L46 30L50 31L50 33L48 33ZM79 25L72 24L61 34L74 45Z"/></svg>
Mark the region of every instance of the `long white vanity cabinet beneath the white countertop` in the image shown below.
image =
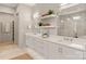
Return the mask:
<svg viewBox="0 0 86 64"><path fill-rule="evenodd" d="M82 60L83 51L53 43L36 37L26 37L26 46L37 51L45 59L53 60Z"/></svg>

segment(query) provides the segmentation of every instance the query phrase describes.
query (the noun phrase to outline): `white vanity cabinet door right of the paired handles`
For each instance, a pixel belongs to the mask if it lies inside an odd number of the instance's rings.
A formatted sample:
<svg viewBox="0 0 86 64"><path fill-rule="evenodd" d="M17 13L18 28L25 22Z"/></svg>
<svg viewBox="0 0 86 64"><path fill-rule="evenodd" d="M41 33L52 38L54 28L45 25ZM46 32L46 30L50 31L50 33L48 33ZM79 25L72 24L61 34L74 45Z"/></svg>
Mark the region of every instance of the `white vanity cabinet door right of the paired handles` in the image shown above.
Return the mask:
<svg viewBox="0 0 86 64"><path fill-rule="evenodd" d="M62 56L63 59L71 59L71 60L82 60L83 59L83 51L72 49L69 47L63 47L62 46Z"/></svg>

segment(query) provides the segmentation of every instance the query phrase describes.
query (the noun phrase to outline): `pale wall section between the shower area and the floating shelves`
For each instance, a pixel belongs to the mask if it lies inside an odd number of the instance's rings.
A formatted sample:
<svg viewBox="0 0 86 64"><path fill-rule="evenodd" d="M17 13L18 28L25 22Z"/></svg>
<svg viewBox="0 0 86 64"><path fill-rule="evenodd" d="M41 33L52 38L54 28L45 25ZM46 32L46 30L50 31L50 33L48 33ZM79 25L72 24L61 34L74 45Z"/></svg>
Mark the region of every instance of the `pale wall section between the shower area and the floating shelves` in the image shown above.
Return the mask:
<svg viewBox="0 0 86 64"><path fill-rule="evenodd" d="M22 47L25 44L25 33L27 26L32 25L32 8L25 4L20 4L17 7L19 13L19 46Z"/></svg>

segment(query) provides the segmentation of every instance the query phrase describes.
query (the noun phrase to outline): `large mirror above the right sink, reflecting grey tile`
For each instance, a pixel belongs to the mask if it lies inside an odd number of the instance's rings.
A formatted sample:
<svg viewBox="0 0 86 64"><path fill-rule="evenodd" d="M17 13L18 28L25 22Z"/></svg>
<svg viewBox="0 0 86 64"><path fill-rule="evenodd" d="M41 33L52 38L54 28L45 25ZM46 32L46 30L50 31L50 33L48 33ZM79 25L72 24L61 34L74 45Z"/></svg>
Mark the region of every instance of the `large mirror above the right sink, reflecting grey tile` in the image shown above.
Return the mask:
<svg viewBox="0 0 86 64"><path fill-rule="evenodd" d="M75 16L79 16L79 18L74 20ZM74 37L77 34L81 37L86 35L86 12L63 15L60 16L60 20L61 23L58 29L60 36Z"/></svg>

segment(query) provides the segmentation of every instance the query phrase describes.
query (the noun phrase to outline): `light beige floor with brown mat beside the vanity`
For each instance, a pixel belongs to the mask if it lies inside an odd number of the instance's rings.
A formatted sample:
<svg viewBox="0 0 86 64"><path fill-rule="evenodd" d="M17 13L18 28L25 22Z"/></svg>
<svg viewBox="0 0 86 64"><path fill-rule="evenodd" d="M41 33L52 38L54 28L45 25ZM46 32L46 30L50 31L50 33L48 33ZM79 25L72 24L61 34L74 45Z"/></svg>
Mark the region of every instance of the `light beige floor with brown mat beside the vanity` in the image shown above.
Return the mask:
<svg viewBox="0 0 86 64"><path fill-rule="evenodd" d="M24 55L23 55L24 54ZM32 60L26 52L12 42L0 42L0 60Z"/></svg>

